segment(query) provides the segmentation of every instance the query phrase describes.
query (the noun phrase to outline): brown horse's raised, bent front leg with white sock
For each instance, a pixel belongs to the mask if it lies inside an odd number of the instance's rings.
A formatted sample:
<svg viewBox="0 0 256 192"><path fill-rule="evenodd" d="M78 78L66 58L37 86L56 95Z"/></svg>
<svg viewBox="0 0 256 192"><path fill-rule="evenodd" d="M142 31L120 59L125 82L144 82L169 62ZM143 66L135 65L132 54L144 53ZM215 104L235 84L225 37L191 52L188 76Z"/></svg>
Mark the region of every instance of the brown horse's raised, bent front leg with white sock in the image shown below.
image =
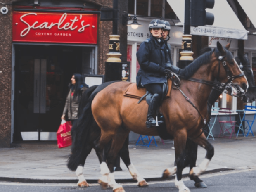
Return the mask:
<svg viewBox="0 0 256 192"><path fill-rule="evenodd" d="M204 133L202 133L198 138L194 139L193 141L197 143L197 145L200 145L201 147L206 149L206 156L203 162L201 162L198 167L193 167L190 171L190 175L199 176L201 175L201 173L206 171L206 168L208 167L211 158L214 155L214 147L208 140L206 140Z"/></svg>

